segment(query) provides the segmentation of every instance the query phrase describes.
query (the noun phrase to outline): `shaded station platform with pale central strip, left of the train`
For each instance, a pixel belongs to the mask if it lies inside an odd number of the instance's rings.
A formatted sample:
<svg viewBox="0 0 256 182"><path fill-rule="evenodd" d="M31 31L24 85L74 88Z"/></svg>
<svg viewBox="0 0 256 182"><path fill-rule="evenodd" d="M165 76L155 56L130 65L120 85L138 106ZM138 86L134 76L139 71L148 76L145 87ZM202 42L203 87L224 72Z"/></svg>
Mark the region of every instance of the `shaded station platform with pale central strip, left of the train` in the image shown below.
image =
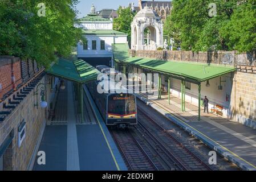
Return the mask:
<svg viewBox="0 0 256 182"><path fill-rule="evenodd" d="M87 115L86 122L80 123L75 113L76 101L71 82L68 82L66 89L59 93L56 116L46 126L38 150L45 152L46 164L39 165L37 156L33 170L126 171L123 158L100 115ZM87 114L92 114L94 110L89 108L89 104L94 107L90 99L88 96L84 100L84 113Z"/></svg>

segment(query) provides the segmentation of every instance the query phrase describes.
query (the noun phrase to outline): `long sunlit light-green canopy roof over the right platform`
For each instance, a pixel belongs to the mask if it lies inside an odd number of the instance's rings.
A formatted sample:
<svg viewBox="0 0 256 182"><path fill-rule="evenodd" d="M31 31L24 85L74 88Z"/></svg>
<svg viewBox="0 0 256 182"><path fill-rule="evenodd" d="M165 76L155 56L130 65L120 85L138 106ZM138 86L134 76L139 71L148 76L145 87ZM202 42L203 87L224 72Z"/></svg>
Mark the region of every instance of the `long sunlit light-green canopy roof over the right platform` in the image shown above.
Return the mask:
<svg viewBox="0 0 256 182"><path fill-rule="evenodd" d="M236 71L234 67L224 65L208 65L182 61L164 61L142 57L130 57L121 63L132 64L152 71L166 73L184 80L204 82L212 78Z"/></svg>

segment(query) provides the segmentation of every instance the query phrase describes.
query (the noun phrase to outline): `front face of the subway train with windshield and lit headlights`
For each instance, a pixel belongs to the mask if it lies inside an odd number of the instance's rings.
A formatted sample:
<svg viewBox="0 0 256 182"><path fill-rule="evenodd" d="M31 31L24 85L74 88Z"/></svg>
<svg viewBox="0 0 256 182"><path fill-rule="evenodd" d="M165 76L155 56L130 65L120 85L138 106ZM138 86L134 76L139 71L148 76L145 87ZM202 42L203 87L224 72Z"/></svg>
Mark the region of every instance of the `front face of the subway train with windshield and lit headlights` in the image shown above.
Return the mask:
<svg viewBox="0 0 256 182"><path fill-rule="evenodd" d="M137 125L136 96L128 93L109 94L106 120L108 126L120 128Z"/></svg>

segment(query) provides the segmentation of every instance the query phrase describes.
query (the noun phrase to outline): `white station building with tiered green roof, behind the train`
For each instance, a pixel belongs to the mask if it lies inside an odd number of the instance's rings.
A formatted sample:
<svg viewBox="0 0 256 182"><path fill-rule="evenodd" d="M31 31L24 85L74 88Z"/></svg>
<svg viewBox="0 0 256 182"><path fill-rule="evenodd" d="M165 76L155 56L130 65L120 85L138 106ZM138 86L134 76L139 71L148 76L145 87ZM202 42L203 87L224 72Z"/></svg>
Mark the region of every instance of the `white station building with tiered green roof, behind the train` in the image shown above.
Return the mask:
<svg viewBox="0 0 256 182"><path fill-rule="evenodd" d="M96 14L94 5L91 13L78 19L87 41L78 43L78 59L95 65L110 65L112 60L112 44L127 43L127 34L113 30L113 18L102 18Z"/></svg>

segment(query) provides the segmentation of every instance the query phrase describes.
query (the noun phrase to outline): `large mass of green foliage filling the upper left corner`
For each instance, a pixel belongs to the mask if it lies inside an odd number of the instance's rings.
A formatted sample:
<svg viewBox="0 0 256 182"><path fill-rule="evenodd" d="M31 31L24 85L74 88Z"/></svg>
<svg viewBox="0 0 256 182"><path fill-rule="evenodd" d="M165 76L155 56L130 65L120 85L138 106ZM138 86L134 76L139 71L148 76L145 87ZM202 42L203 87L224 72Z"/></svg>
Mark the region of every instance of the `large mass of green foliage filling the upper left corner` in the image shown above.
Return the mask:
<svg viewBox="0 0 256 182"><path fill-rule="evenodd" d="M46 16L38 16L39 3ZM57 56L67 56L82 38L74 27L77 0L2 0L0 55L36 60L48 67Z"/></svg>

